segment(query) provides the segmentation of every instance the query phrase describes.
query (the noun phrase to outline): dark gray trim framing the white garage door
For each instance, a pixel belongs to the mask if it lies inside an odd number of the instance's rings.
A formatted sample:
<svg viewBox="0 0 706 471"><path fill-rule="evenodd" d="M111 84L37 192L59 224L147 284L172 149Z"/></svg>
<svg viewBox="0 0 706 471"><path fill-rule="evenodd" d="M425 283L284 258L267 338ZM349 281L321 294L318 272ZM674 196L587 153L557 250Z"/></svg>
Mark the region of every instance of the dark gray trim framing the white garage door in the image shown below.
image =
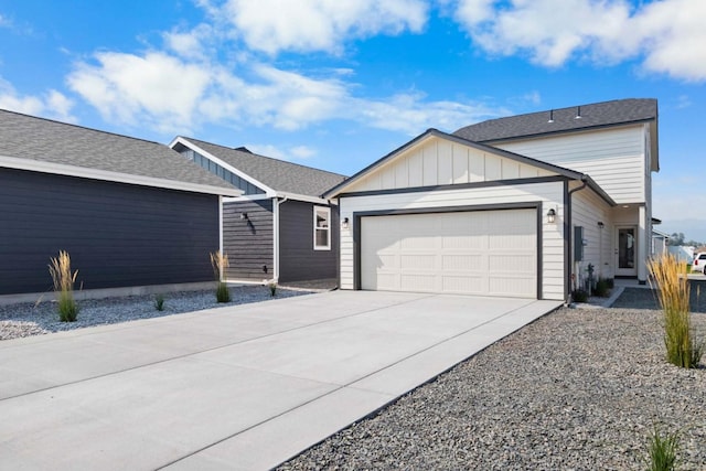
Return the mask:
<svg viewBox="0 0 706 471"><path fill-rule="evenodd" d="M396 216L407 214L432 214L432 213L466 213L477 211L502 211L502 210L535 210L536 211L536 240L537 240L537 299L542 299L542 202L502 203L502 204L479 204L466 206L439 206L418 207L405 210L378 210L354 212L353 216L353 289L360 290L361 282L361 220L374 216Z"/></svg>

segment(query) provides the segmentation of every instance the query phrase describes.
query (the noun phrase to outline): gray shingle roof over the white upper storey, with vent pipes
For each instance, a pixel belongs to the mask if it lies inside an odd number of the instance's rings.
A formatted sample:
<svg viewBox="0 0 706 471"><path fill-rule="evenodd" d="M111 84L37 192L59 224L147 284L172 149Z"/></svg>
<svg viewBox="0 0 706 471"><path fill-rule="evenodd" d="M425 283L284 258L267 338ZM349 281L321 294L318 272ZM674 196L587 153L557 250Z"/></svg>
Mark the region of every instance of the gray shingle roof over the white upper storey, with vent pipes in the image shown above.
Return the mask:
<svg viewBox="0 0 706 471"><path fill-rule="evenodd" d="M580 105L581 118L576 119L578 111L579 106L574 106L491 119L461 128L453 135L474 142L489 142L656 120L657 100L652 98L628 98ZM548 122L552 115L554 122Z"/></svg>

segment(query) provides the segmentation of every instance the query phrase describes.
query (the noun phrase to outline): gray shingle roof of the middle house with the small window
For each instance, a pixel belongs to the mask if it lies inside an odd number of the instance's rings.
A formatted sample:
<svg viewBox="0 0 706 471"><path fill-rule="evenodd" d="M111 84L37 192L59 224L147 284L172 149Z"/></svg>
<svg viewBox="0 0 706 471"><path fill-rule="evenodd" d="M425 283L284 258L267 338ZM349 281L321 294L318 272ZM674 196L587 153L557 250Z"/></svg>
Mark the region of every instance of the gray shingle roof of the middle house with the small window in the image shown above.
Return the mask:
<svg viewBox="0 0 706 471"><path fill-rule="evenodd" d="M338 173L217 146L199 139L182 139L194 143L277 192L321 196L323 192L346 179Z"/></svg>

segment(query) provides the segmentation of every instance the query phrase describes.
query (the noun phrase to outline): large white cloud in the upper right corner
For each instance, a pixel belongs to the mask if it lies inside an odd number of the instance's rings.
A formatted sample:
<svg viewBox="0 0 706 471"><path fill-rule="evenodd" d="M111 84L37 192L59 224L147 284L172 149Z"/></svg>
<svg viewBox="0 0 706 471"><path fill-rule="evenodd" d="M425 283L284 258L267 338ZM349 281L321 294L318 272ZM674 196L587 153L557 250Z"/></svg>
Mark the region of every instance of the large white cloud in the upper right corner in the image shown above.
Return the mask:
<svg viewBox="0 0 706 471"><path fill-rule="evenodd" d="M650 72L706 79L703 0L458 0L454 17L492 54L545 66L639 58Z"/></svg>

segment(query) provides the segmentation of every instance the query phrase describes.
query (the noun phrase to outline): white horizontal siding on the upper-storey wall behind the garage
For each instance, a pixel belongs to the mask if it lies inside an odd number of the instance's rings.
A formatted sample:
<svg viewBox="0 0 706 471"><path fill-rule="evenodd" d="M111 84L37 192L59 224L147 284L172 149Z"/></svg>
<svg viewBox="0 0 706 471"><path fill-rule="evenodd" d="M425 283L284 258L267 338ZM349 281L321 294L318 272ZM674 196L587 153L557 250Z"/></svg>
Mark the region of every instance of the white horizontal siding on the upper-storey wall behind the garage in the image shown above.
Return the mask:
<svg viewBox="0 0 706 471"><path fill-rule="evenodd" d="M513 140L494 146L587 173L618 204L645 202L649 185L645 125Z"/></svg>

